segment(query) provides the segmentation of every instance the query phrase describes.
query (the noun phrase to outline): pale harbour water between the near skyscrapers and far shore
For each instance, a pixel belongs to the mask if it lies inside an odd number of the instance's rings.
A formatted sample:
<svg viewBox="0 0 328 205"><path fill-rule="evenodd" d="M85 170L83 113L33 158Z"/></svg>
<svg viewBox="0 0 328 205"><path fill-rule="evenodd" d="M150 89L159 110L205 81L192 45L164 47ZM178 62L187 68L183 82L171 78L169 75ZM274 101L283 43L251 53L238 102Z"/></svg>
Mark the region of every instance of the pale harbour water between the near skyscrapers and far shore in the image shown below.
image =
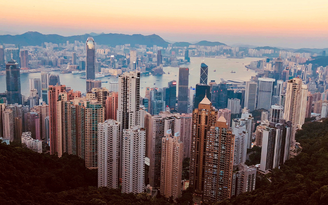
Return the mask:
<svg viewBox="0 0 328 205"><path fill-rule="evenodd" d="M197 57L191 57L191 64L184 64L181 67L189 68L189 87L199 83L200 78L200 63L201 59ZM258 58L244 58L244 59L230 59L228 58L205 58L205 64L208 65L208 83L211 80L215 82L221 82L221 78L230 78L248 81L252 75L256 73L252 70L247 71L245 65L248 65L251 61L256 61ZM243 65L244 64L244 65ZM140 95L143 97L145 95L146 87L167 87L167 83L171 80L176 80L178 83L179 69L177 67L164 67L165 73L170 72L170 74L164 75L147 75L141 76L140 80ZM214 72L216 70L216 72ZM231 71L236 73L231 73ZM73 90L79 90L84 92L86 89L85 79L80 77L85 74L71 74L71 73L59 73L51 72L54 74L59 74L60 82L67 87L71 87ZM29 89L29 79L30 78L41 78L41 73L22 73L21 74L21 89L22 94L25 96L30 95ZM109 78L109 79L108 79ZM102 78L97 78L97 80L108 81L107 83L102 83L103 87L109 88L109 82L117 81L116 76L105 76ZM155 83L155 85L154 85ZM6 76L0 76L0 92L6 91Z"/></svg>

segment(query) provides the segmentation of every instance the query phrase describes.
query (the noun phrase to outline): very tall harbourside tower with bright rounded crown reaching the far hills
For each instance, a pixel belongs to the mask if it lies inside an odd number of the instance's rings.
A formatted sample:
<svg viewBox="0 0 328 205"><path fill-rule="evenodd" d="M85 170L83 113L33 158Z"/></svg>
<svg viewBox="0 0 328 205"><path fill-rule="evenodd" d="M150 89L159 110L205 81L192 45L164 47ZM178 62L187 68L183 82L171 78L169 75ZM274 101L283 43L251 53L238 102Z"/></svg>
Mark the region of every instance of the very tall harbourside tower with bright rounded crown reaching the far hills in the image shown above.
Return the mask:
<svg viewBox="0 0 328 205"><path fill-rule="evenodd" d="M86 80L95 80L95 48L94 48L94 40L92 37L89 37L86 43Z"/></svg>

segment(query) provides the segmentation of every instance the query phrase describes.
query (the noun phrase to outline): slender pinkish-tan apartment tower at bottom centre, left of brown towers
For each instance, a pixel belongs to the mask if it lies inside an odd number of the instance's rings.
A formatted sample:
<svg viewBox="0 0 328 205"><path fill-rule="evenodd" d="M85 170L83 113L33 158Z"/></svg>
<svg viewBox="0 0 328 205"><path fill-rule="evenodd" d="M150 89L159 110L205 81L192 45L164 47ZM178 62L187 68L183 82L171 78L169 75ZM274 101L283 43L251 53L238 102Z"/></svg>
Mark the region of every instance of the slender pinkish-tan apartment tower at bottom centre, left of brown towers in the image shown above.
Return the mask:
<svg viewBox="0 0 328 205"><path fill-rule="evenodd" d="M161 185L160 193L165 198L173 199L181 196L182 152L183 144L179 132L172 136L171 130L166 131L162 138Z"/></svg>

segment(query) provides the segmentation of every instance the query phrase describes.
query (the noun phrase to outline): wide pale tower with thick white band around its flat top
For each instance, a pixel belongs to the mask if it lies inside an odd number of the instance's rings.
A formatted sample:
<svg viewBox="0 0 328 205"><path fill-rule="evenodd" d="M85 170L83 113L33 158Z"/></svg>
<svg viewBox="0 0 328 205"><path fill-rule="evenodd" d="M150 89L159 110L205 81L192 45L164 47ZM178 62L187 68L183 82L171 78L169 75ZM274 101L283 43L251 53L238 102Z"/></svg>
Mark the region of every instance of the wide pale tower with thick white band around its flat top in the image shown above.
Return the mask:
<svg viewBox="0 0 328 205"><path fill-rule="evenodd" d="M258 81L257 109L270 110L272 89L276 80L273 78L258 78Z"/></svg>

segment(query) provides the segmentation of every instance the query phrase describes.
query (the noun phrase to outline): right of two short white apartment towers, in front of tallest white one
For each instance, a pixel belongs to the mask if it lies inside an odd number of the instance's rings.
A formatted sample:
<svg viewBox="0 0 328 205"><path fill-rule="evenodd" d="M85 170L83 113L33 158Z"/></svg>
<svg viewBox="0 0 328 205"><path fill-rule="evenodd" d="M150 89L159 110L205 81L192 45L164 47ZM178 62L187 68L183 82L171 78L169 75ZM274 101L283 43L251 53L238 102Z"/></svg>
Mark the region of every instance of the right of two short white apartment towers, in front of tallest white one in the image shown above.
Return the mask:
<svg viewBox="0 0 328 205"><path fill-rule="evenodd" d="M146 133L138 126L123 130L122 192L142 193L145 182Z"/></svg>

